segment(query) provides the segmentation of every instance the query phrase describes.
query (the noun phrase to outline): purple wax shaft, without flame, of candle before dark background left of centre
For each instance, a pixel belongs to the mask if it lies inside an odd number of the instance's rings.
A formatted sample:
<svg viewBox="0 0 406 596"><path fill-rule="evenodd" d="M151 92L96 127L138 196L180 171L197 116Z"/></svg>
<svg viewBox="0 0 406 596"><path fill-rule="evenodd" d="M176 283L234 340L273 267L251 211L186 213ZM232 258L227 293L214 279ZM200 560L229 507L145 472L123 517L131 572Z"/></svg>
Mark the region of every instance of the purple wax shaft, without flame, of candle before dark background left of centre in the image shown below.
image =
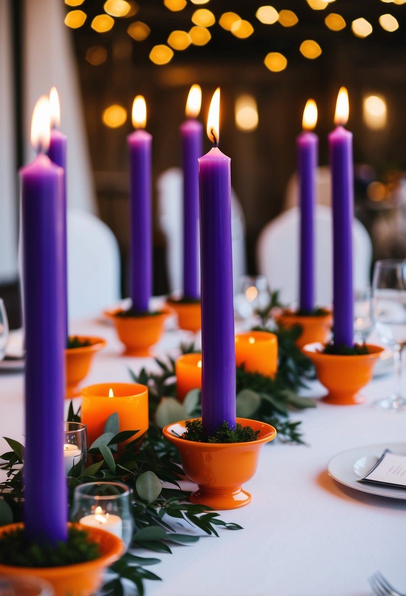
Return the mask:
<svg viewBox="0 0 406 596"><path fill-rule="evenodd" d="M152 294L152 136L138 129L127 141L130 150L131 297L133 308L146 312Z"/></svg>

